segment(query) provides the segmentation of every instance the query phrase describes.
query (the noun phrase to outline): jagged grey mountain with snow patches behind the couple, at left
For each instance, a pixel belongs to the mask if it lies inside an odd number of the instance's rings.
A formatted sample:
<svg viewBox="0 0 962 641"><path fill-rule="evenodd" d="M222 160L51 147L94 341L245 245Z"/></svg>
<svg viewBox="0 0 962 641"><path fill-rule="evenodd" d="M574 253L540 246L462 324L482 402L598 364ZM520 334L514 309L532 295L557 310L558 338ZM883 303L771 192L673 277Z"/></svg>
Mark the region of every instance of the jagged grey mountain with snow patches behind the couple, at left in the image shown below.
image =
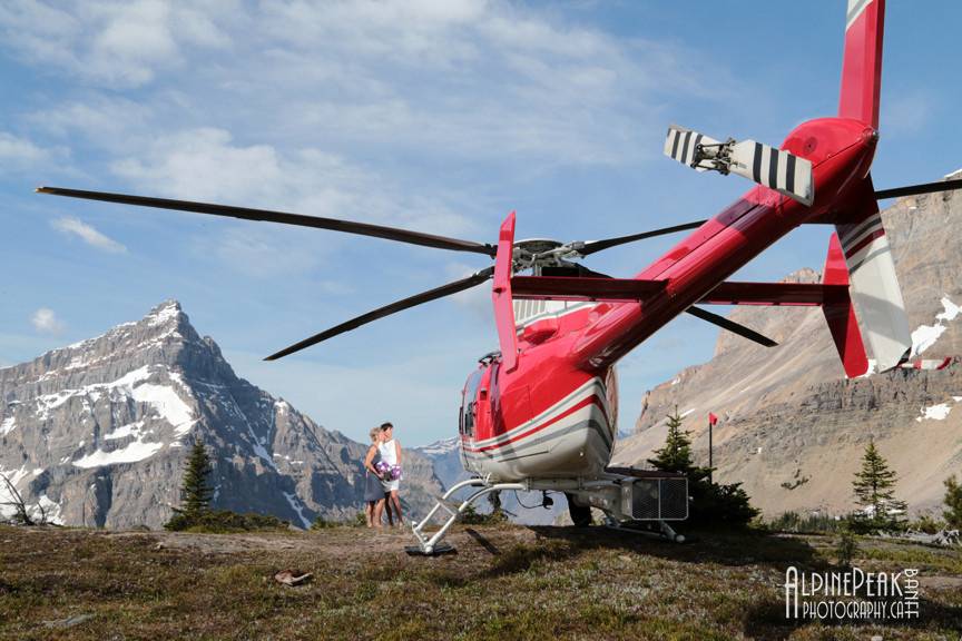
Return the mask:
<svg viewBox="0 0 962 641"><path fill-rule="evenodd" d="M59 523L161 526L194 438L210 454L215 507L307 526L363 505L367 446L237 377L175 300L0 369L0 473ZM441 485L416 453L404 467L402 499L423 513Z"/></svg>

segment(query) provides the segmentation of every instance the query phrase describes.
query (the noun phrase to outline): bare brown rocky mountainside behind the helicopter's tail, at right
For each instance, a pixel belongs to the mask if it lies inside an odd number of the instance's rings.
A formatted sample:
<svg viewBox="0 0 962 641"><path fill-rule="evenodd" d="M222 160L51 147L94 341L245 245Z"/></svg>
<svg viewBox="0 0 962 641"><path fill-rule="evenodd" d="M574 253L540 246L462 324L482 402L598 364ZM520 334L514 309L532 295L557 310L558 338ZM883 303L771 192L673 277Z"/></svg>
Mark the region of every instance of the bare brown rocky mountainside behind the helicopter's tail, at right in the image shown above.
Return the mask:
<svg viewBox="0 0 962 641"><path fill-rule="evenodd" d="M902 198L882 216L916 328L915 355L962 354L962 191ZM788 279L812 283L819 275L802 269ZM896 494L912 510L941 502L942 481L962 472L962 366L848 381L821 309L738 307L729 317L779 345L765 348L723 332L711 361L645 395L617 463L644 462L660 447L664 418L677 406L699 464L708 460L707 414L720 417L716 480L744 482L768 515L852 510L852 477L870 440L899 473Z"/></svg>

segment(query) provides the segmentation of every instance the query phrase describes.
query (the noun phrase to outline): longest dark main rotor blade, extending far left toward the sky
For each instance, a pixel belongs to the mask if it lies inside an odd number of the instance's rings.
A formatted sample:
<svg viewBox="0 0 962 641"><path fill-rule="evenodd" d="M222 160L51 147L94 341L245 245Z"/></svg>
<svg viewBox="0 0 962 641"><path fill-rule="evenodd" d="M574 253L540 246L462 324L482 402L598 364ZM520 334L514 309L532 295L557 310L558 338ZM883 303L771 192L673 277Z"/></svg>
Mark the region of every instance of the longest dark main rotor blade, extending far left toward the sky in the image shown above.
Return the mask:
<svg viewBox="0 0 962 641"><path fill-rule="evenodd" d="M169 198L149 198L147 196L130 196L127 194L110 194L107 191L85 191L82 189L66 189L61 187L39 187L40 194L52 194L55 196L68 196L70 198L85 198L87 200L104 200L106 203L120 203L122 205L136 205L138 207L156 207L158 209L176 209L179 211L193 211L195 214L209 214L212 216L227 216L242 218L244 220L266 220L268 223L282 223L284 225L298 225L301 227L315 227L317 229L330 229L332 231L344 231L360 236L373 236L399 243L421 245L424 247L436 247L439 249L451 249L453 252L472 252L493 257L498 248L493 245L474 243L473 240L460 240L446 238L433 234L411 231L396 227L384 227L369 223L354 223L340 220L337 218L321 218L320 216L304 216L303 214L287 214L285 211L271 211L267 209L251 209L248 207L233 207L229 205L214 205L210 203L194 203L190 200L171 200Z"/></svg>

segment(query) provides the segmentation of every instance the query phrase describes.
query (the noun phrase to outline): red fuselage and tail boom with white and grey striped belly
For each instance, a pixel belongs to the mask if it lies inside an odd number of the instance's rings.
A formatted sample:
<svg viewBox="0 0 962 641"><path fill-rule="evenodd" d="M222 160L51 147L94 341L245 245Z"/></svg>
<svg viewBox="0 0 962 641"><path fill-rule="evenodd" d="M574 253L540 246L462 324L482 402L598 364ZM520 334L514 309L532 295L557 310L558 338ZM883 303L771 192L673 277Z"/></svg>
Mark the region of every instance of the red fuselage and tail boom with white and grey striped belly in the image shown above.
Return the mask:
<svg viewBox="0 0 962 641"><path fill-rule="evenodd" d="M602 473L617 434L618 359L798 225L843 210L865 188L876 139L857 120L805 122L782 149L812 161L811 207L755 187L635 276L664 283L657 295L519 316L517 367L484 358L464 386L465 469L498 481Z"/></svg>

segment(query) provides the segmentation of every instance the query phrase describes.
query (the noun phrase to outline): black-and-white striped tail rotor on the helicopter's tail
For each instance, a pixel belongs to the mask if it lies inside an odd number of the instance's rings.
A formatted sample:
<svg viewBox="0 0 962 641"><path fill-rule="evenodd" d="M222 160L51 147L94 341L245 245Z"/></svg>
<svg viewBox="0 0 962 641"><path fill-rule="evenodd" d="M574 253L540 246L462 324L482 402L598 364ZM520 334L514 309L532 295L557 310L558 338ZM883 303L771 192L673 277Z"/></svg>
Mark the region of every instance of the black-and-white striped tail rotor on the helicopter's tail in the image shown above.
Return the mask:
<svg viewBox="0 0 962 641"><path fill-rule="evenodd" d="M697 171L737 174L806 206L815 200L812 162L755 140L737 142L729 138L719 142L673 125L665 139L665 155Z"/></svg>

